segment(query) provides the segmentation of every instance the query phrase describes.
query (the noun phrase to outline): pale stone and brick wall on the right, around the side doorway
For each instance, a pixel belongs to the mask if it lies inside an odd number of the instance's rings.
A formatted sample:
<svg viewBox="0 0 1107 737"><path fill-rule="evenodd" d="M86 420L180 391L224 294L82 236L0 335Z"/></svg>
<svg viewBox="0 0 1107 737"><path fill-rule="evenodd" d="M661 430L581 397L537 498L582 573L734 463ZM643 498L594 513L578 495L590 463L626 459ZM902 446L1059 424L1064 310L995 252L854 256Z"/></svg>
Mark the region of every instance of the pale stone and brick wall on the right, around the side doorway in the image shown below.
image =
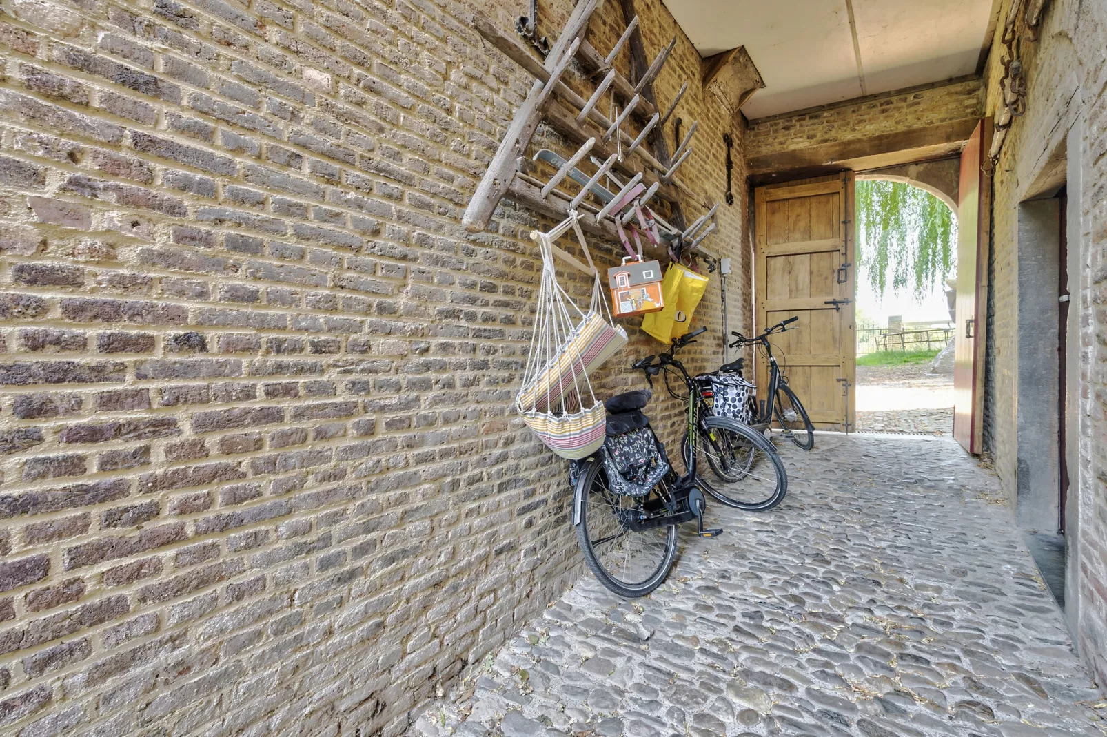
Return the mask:
<svg viewBox="0 0 1107 737"><path fill-rule="evenodd" d="M1007 14L1005 2L1001 18ZM997 34L999 39L999 34ZM985 397L996 471L1008 498L1017 488L1017 371L1020 203L1049 194L1069 181L1068 249L1070 310L1077 311L1078 366L1074 378L1078 402L1070 407L1077 453L1069 497L1067 547L1069 578L1066 619L1082 654L1100 685L1107 684L1107 172L1103 157L1107 138L1107 8L1103 3L1054 0L1048 4L1039 39L1023 40L1028 96L1026 114L1016 118L1004 142L993 179L994 340L990 356L994 376ZM999 112L1004 53L999 40L987 64L987 114ZM1070 135L1072 133L1072 135ZM1059 157L1059 160L1058 160ZM1061 166L1059 172L1057 166ZM1073 261L1070 261L1073 263ZM1073 382L1069 383L1073 387ZM1076 437L1074 437L1074 435Z"/></svg>

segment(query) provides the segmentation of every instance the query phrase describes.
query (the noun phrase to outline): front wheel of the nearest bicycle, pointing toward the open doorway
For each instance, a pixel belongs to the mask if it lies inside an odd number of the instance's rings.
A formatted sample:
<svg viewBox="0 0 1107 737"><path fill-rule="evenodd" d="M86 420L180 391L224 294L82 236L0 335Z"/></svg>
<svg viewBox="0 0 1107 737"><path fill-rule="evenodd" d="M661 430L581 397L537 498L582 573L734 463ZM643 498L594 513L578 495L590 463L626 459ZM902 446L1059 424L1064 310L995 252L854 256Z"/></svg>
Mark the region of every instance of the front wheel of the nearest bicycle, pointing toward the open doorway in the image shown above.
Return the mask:
<svg viewBox="0 0 1107 737"><path fill-rule="evenodd" d="M696 451L713 474L708 477L700 470L699 480L724 505L764 511L780 504L788 492L788 475L776 448L736 419L704 417Z"/></svg>

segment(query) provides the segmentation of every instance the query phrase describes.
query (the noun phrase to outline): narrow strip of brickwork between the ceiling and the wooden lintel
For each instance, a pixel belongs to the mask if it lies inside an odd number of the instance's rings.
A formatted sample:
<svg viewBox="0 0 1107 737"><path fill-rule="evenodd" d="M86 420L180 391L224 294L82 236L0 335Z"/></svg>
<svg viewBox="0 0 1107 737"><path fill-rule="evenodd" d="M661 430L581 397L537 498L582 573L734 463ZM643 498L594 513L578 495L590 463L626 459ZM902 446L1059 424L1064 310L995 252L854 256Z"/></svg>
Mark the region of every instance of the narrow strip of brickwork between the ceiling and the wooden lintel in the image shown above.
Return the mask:
<svg viewBox="0 0 1107 737"><path fill-rule="evenodd" d="M980 114L983 84L953 80L749 121L748 156L868 138Z"/></svg>

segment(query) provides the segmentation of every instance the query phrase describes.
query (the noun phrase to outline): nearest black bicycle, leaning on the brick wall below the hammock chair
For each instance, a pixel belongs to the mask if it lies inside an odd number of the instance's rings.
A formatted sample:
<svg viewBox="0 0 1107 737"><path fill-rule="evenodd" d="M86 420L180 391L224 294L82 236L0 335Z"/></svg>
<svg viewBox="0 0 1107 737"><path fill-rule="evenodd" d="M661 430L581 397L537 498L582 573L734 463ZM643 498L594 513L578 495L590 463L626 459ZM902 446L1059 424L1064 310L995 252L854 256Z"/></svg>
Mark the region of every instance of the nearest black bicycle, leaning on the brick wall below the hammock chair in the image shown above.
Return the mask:
<svg viewBox="0 0 1107 737"><path fill-rule="evenodd" d="M651 387L653 378L661 374L683 381L686 394L677 396L687 403L685 443L692 449L687 473L677 476L669 466L664 447L656 442L649 419L641 413L649 392L628 392L608 399L609 412L615 413L608 417L609 430L633 438L637 430L648 428L648 437L656 443L664 463L664 475L649 488L635 489L613 469L613 454L607 445L579 467L572 522L580 549L600 583L621 596L644 596L665 580L676 558L677 525L695 520L696 533L702 538L723 532L703 526L707 506L704 492L731 507L761 511L778 505L788 490L784 464L773 444L735 419L703 414L694 380L673 357L675 351L694 342L705 330L676 339L665 353L646 356L632 365L645 372ZM639 433L637 437L643 435ZM728 458L741 456L743 464L748 458L748 465L731 480L708 482L696 470L701 443L706 445L708 463L714 458L715 464L726 467Z"/></svg>

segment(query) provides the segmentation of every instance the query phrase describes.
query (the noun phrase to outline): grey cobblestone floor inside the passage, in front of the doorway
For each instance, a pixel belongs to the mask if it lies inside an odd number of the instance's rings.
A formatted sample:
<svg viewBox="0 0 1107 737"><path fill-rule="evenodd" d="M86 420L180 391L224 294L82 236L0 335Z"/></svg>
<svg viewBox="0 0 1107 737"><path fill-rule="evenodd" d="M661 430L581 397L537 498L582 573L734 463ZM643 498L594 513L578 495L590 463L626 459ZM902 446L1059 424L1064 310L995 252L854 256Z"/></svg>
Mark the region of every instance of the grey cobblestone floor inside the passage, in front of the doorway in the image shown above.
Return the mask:
<svg viewBox="0 0 1107 737"><path fill-rule="evenodd" d="M412 734L1105 734L994 477L952 439L782 455L780 507L713 505L726 533L685 530L651 596L582 578Z"/></svg>

